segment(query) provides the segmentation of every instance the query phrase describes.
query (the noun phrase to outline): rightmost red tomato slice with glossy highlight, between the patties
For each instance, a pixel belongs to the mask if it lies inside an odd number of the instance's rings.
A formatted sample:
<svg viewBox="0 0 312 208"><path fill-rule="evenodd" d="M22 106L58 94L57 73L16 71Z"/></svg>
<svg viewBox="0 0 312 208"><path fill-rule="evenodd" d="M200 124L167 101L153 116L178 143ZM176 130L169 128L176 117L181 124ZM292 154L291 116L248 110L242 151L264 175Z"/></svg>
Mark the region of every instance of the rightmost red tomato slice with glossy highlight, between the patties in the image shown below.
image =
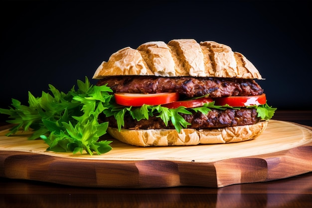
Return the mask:
<svg viewBox="0 0 312 208"><path fill-rule="evenodd" d="M226 105L232 107L244 107L244 106L251 106L251 105L263 105L266 104L267 98L266 94L262 95L254 95L254 96L230 96L230 97L220 97L220 98L213 98L215 101L215 105Z"/></svg>

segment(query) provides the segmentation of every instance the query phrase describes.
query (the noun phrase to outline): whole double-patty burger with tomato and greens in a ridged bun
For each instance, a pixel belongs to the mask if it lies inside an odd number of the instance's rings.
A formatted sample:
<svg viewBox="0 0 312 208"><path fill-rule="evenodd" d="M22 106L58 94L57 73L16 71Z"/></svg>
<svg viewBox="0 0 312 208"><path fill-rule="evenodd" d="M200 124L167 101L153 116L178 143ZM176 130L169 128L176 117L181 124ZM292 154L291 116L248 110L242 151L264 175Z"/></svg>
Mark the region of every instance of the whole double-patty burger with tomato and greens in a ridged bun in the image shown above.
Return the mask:
<svg viewBox="0 0 312 208"><path fill-rule="evenodd" d="M258 137L276 108L241 53L214 41L173 39L125 47L103 61L96 85L114 96L99 119L134 146L243 142Z"/></svg>

